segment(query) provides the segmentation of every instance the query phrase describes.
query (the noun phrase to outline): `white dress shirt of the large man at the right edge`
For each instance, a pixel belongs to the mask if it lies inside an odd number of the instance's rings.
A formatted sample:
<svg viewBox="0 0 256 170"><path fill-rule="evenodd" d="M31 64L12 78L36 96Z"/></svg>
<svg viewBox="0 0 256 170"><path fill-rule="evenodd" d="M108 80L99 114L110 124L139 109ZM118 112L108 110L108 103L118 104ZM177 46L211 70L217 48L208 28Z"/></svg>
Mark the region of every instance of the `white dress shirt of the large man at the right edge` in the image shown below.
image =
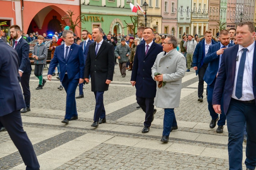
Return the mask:
<svg viewBox="0 0 256 170"><path fill-rule="evenodd" d="M254 42L246 47L248 50L246 51L246 60L245 60L245 68L244 68L244 75L243 75L243 84L242 84L242 97L238 99L236 97L236 80L237 80L237 74L239 69L240 60L243 53L243 47L242 45L239 45L238 48L238 61L236 61L236 74L235 74L235 81L233 85L233 92L232 92L232 98L236 100L242 100L242 101L249 101L254 99L253 95L253 89L252 89L252 62L253 62L253 53L254 53Z"/></svg>

